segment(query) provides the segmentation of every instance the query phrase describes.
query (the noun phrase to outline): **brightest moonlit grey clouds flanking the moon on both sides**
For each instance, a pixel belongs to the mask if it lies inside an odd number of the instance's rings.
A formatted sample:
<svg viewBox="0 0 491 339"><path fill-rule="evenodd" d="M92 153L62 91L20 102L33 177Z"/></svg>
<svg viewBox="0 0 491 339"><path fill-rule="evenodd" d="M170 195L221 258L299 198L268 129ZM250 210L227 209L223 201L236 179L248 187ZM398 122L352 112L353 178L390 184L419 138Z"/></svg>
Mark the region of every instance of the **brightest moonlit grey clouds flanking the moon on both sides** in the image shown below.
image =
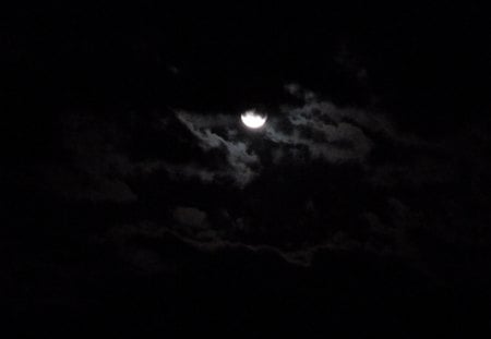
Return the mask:
<svg viewBox="0 0 491 339"><path fill-rule="evenodd" d="M280 107L280 114L272 114L261 132L264 140L272 143L270 149L267 146L252 149L251 138L241 133L237 128L238 119L232 116L177 111L176 117L192 133L201 149L218 150L225 159L220 168L205 171L200 165L189 164L182 167L184 172L194 173L205 182L231 178L238 186L244 187L258 178L268 159L276 165L292 158L361 164L375 146L370 133L395 135L381 116L338 108L297 84L287 85L286 90L302 102Z"/></svg>

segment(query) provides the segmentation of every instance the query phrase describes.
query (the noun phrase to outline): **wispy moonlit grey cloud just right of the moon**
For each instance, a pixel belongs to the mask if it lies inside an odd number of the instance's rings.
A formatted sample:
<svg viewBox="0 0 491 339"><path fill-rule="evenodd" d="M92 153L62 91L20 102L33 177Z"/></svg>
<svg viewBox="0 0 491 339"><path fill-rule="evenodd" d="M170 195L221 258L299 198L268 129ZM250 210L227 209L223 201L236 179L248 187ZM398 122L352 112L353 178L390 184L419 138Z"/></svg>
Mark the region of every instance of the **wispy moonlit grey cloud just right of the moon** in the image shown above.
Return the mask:
<svg viewBox="0 0 491 339"><path fill-rule="evenodd" d="M420 140L398 132L381 113L337 107L298 84L288 84L285 88L302 104L283 106L282 116L276 119L282 123L270 123L265 135L277 144L306 146L311 158L331 164L363 162L378 146L375 137L404 145L422 144ZM286 150L283 154L289 156L288 148ZM275 159L279 160L278 153Z"/></svg>

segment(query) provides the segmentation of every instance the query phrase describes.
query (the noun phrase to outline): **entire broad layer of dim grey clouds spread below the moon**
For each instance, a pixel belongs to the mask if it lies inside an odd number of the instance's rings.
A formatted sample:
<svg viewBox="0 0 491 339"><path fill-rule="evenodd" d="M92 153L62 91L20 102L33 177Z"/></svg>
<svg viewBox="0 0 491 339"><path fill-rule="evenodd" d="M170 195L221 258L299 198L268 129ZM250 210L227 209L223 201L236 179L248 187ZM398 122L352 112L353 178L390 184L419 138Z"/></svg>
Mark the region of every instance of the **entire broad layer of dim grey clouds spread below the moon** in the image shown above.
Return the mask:
<svg viewBox="0 0 491 339"><path fill-rule="evenodd" d="M101 208L132 206L133 221L111 227L137 237L266 251L291 264L309 265L322 251L411 256L411 233L428 225L444 229L445 241L476 241L460 237L458 223L466 208L482 205L472 192L489 167L460 164L488 152L483 133L429 143L383 114L338 107L299 85L286 90L296 104L271 112L254 133L237 113L176 109L111 121L72 112L63 125L68 162L45 165L41 190ZM148 251L134 259L148 256L154 269L158 255Z"/></svg>

